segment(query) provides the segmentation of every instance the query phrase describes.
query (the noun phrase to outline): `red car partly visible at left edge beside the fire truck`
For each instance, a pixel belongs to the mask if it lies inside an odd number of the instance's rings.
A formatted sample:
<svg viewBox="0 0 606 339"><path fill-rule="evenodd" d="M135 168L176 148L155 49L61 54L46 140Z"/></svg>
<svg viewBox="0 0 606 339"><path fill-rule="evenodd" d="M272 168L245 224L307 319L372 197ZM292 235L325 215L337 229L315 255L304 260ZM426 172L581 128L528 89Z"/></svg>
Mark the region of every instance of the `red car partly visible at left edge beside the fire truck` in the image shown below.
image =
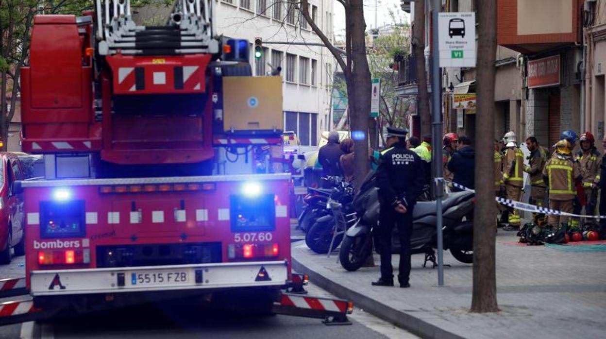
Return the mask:
<svg viewBox="0 0 606 339"><path fill-rule="evenodd" d="M25 254L23 194L13 194L15 180L27 177L19 154L0 152L0 264Z"/></svg>

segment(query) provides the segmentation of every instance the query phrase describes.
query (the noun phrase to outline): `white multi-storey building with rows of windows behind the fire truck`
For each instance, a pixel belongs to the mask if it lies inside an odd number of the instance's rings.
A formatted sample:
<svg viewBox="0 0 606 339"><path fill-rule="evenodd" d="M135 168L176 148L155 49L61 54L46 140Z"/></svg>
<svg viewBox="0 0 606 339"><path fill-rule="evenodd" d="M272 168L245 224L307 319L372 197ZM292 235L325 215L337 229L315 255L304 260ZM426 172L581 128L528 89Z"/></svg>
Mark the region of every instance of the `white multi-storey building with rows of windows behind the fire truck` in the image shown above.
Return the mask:
<svg viewBox="0 0 606 339"><path fill-rule="evenodd" d="M301 144L315 146L321 132L331 129L331 91L335 61L295 0L215 1L219 34L262 39L262 56L251 53L253 75L282 68L284 129L295 131ZM333 40L333 1L310 0L313 21Z"/></svg>

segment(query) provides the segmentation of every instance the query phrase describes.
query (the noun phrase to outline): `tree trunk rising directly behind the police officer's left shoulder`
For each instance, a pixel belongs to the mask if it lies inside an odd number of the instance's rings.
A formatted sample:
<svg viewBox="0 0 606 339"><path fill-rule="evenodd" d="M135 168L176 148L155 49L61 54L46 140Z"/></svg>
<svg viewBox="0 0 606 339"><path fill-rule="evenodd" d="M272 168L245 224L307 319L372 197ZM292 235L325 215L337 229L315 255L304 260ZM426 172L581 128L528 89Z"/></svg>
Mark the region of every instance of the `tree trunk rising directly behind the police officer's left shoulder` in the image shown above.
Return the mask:
<svg viewBox="0 0 606 339"><path fill-rule="evenodd" d="M366 58L366 23L362 0L350 1L351 27L351 81L347 82L347 96L350 103L350 130L361 131L365 138L355 140L356 187L368 172L368 116L370 115L370 70ZM352 106L353 104L353 106Z"/></svg>

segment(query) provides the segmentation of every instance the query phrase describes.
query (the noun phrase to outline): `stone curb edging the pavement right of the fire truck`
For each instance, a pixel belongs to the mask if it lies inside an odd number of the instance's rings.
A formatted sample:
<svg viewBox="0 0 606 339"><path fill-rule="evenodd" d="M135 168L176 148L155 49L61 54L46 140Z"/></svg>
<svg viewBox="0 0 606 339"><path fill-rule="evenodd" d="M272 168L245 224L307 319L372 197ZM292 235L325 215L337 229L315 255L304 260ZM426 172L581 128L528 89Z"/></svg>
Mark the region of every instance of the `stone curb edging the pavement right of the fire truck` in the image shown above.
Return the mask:
<svg viewBox="0 0 606 339"><path fill-rule="evenodd" d="M348 289L347 287L342 286L335 281L311 270L309 267L299 262L294 256L291 258L292 267L294 270L296 270L296 272L300 274L307 274L310 281L313 281L313 283L317 286L327 290L339 298L353 301L356 307L360 307L361 309L364 309L365 312L375 315L382 320L395 324L398 327L402 327L403 329L406 329L407 331L410 331L411 333L422 338L465 338L454 334L453 332L447 331L447 329L436 326L436 324L428 323L427 321L422 320L419 317L415 317L410 313L387 306L386 304L360 294L355 290ZM425 314L422 311L415 313ZM445 327L448 327L448 325L445 324Z"/></svg>

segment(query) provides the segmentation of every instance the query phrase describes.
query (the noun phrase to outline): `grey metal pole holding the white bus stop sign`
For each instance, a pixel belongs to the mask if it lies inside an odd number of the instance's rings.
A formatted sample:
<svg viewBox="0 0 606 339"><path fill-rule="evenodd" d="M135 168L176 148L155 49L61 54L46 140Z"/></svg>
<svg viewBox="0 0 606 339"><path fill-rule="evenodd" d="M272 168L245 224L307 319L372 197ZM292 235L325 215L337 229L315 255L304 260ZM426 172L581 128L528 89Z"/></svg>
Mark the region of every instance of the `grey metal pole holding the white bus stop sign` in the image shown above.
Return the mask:
<svg viewBox="0 0 606 339"><path fill-rule="evenodd" d="M436 220L436 232L438 234L438 286L444 286L444 241L442 237L442 195L444 193L444 178L442 178L442 86L440 72L440 52L438 44L438 16L442 1L433 0L433 29L431 30L431 40L433 41L433 55L431 56L431 115L433 116L433 163L435 164L435 196L436 209L438 209L438 218ZM427 16L429 13L427 14ZM421 85L419 85L421 86Z"/></svg>

